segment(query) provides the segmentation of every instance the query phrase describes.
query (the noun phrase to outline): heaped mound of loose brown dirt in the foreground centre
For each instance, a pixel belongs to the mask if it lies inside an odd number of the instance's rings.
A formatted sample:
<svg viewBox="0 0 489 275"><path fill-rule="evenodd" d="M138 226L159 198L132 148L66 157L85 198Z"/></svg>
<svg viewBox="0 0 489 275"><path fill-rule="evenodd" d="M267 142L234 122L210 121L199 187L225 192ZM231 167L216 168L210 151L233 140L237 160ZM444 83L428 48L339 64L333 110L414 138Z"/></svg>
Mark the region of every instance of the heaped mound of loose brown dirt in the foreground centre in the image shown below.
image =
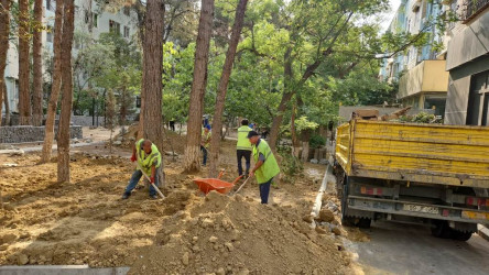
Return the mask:
<svg viewBox="0 0 489 275"><path fill-rule="evenodd" d="M141 251L130 274L344 274L349 255L293 207L240 195L192 196Z"/></svg>

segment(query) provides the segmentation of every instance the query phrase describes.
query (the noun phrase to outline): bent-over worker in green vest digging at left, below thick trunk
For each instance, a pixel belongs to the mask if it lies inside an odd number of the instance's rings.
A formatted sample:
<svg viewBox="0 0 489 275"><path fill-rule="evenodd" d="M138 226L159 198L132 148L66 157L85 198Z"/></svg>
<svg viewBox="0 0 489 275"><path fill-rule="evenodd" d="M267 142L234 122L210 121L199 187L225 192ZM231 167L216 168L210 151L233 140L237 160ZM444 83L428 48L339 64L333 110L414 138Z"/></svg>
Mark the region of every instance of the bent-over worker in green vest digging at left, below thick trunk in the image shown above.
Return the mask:
<svg viewBox="0 0 489 275"><path fill-rule="evenodd" d="M161 154L156 145L154 145L150 140L139 140L132 147L131 162L138 162L139 167L142 168L142 172L137 169L132 174L129 185L126 187L126 191L122 195L122 199L127 199L129 196L131 196L131 191L138 185L143 172L145 175L151 175L150 180L152 184L155 186L159 185L157 168L161 166ZM157 199L156 190L152 185L150 185L150 197Z"/></svg>

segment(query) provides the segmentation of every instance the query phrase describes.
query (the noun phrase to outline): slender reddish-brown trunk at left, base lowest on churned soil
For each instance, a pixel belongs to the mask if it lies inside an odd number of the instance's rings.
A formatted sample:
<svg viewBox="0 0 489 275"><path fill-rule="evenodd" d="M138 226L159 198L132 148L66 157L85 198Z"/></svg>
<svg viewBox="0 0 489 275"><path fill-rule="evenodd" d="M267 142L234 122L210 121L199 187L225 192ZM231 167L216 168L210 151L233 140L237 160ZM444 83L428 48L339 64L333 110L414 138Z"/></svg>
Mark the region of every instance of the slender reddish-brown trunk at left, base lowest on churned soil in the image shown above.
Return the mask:
<svg viewBox="0 0 489 275"><path fill-rule="evenodd" d="M57 182L69 183L69 122L72 120L73 75L72 44L75 0L65 0L62 41L62 89L59 127L57 133Z"/></svg>

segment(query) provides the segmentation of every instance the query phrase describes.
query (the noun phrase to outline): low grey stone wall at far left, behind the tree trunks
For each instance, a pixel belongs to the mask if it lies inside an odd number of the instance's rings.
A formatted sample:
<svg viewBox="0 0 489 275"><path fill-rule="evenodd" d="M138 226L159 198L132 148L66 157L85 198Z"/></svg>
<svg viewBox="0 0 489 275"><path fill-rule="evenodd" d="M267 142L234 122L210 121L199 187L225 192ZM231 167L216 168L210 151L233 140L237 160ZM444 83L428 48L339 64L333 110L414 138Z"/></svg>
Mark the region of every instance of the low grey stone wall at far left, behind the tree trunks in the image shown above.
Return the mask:
<svg viewBox="0 0 489 275"><path fill-rule="evenodd" d="M57 128L54 129L56 139ZM83 139L82 127L69 127L70 139ZM0 127L0 143L21 143L44 140L44 127Z"/></svg>

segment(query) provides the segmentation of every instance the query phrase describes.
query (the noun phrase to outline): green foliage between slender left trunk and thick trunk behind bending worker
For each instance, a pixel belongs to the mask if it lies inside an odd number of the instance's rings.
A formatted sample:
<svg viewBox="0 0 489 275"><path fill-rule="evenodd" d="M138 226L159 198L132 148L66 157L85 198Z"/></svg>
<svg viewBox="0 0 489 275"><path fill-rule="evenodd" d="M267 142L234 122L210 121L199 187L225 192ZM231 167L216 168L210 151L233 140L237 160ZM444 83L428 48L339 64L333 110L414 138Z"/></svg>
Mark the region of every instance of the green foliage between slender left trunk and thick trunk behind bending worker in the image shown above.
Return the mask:
<svg viewBox="0 0 489 275"><path fill-rule="evenodd" d="M79 46L74 61L75 113L104 114L107 91L112 90L120 123L124 124L127 116L134 112L134 96L140 94L138 45L115 33L102 33L98 41L76 33L75 41Z"/></svg>

